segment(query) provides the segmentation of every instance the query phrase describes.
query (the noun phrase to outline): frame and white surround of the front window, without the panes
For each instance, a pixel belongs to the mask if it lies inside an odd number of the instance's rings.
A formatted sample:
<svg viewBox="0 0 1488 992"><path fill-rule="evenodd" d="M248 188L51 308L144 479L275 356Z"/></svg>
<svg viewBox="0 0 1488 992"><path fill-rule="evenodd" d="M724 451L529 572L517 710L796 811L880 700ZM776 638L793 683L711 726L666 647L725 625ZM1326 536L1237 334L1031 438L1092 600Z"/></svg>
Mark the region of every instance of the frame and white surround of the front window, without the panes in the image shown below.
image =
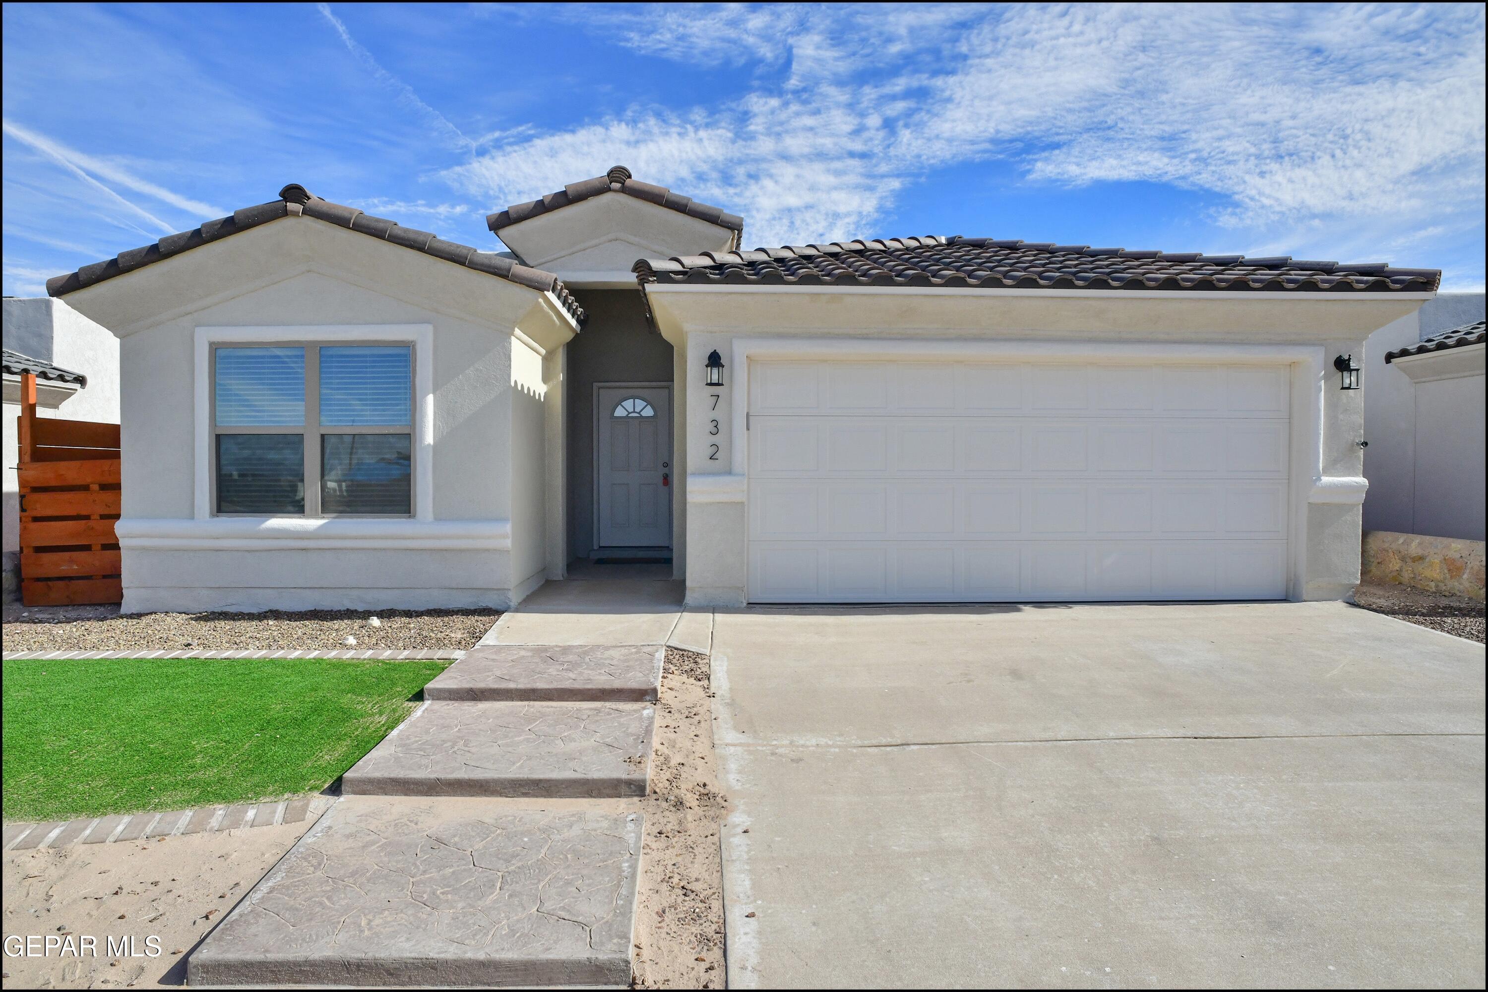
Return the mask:
<svg viewBox="0 0 1488 992"><path fill-rule="evenodd" d="M320 424L320 348L323 347L406 347L409 348L412 405L405 425L324 425ZM216 350L222 348L305 348L305 424L274 427L223 427L216 422L217 376ZM433 326L432 324L317 324L304 327L196 327L195 332L195 518L237 518L259 521L433 521ZM311 427L314 421L314 427ZM305 437L304 513L219 513L217 512L217 436L301 434ZM408 434L409 436L409 512L408 513L323 513L321 512L321 437L324 434ZM311 443L314 440L314 443ZM314 512L312 512L314 510Z"/></svg>

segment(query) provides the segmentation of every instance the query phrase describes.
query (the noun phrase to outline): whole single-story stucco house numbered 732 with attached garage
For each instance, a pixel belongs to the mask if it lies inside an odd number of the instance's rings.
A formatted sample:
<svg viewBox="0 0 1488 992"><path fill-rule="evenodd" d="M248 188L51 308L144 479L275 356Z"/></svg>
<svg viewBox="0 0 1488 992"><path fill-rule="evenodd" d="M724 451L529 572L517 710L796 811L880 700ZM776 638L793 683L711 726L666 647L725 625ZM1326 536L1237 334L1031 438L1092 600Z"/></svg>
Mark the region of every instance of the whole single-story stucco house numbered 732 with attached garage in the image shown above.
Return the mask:
<svg viewBox="0 0 1488 992"><path fill-rule="evenodd" d="M113 330L125 610L1326 599L1348 369L1440 274L988 238L741 251L631 177L509 256L301 186L48 283ZM640 259L640 260L637 260Z"/></svg>

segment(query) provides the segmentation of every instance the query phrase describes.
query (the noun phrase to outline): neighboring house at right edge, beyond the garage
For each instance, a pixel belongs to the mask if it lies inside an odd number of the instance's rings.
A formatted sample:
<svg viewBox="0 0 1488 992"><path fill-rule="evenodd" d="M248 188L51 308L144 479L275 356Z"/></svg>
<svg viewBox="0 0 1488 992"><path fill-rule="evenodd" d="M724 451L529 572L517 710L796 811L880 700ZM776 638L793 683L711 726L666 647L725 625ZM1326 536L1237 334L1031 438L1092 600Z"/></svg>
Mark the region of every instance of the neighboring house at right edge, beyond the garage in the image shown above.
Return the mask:
<svg viewBox="0 0 1488 992"><path fill-rule="evenodd" d="M1482 321L1482 293L1442 293L1370 336L1366 531L1484 540Z"/></svg>

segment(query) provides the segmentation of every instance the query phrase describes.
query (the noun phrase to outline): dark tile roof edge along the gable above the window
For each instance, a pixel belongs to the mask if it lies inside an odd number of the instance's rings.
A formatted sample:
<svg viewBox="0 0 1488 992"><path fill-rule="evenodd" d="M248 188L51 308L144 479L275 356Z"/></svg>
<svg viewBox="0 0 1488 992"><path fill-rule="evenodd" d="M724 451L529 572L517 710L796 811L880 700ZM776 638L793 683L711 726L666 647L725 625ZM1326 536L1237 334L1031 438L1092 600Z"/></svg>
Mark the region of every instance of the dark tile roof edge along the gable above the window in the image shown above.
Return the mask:
<svg viewBox="0 0 1488 992"><path fill-rule="evenodd" d="M104 280L112 280L116 275L124 275L144 268L146 265L164 262L165 259L177 256L182 251L190 251L192 248L211 241L220 241L229 235L269 223L271 220L289 217L290 214L324 220L339 228L356 231L357 233L379 238L415 251L423 251L424 254L432 254L436 259L454 262L455 265L463 265L464 268L475 269L476 272L500 277L510 283L516 283L518 286L525 286L542 293L552 293L558 297L564 309L568 311L576 323L583 323L583 308L579 306L568 289L552 272L528 268L509 257L503 257L496 251L479 251L467 244L445 241L443 238L429 233L427 231L403 228L396 220L373 217L372 214L362 213L356 207L332 204L330 201L310 193L298 183L290 183L281 189L278 199L259 204L257 207L235 210L231 217L208 220L195 231L167 235L155 244L147 244L143 248L122 251L118 257L85 265L76 272L68 272L67 275L54 277L46 281L46 292L49 296L64 296L97 283L103 283Z"/></svg>

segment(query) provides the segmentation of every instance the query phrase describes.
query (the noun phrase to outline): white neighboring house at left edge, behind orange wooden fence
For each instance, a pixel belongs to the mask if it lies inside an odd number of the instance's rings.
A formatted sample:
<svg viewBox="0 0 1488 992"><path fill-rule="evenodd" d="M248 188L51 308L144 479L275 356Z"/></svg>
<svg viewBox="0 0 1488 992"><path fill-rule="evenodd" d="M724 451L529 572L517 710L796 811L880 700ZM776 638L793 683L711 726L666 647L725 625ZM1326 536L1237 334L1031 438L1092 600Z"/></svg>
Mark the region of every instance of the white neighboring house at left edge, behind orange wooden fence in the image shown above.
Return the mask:
<svg viewBox="0 0 1488 992"><path fill-rule="evenodd" d="M18 586L21 555L21 376L36 375L37 416L119 422L119 339L62 300L4 299L4 595Z"/></svg>

